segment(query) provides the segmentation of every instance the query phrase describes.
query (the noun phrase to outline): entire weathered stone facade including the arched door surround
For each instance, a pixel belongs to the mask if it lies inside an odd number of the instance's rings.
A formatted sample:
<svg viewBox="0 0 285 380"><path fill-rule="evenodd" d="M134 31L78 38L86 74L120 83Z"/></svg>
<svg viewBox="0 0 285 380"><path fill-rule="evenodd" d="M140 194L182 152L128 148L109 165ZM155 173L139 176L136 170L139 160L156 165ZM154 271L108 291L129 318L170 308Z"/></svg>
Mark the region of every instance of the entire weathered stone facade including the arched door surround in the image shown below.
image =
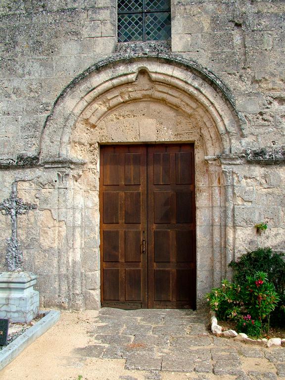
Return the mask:
<svg viewBox="0 0 285 380"><path fill-rule="evenodd" d="M115 0L0 2L0 199L17 182L38 205L18 228L43 306L100 307L101 143L194 142L198 300L247 249L284 250L284 12L172 0L169 44L118 44Z"/></svg>

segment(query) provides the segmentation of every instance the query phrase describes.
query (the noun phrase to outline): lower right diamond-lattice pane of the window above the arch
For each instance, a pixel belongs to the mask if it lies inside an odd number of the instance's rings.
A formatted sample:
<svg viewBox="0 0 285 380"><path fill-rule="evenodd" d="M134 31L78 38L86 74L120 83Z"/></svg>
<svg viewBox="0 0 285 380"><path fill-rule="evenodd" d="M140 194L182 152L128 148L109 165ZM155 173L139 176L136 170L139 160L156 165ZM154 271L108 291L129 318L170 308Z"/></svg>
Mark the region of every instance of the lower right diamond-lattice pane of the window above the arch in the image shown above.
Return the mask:
<svg viewBox="0 0 285 380"><path fill-rule="evenodd" d="M170 12L153 12L145 15L145 41L165 41L171 38Z"/></svg>

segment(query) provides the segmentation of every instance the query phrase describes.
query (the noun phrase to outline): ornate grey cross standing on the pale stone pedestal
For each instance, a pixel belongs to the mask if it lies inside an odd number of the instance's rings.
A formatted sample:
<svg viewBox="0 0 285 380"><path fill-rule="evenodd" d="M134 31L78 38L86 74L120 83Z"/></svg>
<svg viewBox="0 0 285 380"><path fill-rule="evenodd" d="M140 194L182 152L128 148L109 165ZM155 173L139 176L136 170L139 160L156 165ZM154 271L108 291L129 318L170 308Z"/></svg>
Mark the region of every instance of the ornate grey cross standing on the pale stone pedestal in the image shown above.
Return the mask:
<svg viewBox="0 0 285 380"><path fill-rule="evenodd" d="M23 253L18 243L18 228L17 228L17 216L23 215L30 210L35 210L37 205L34 203L24 202L23 199L17 197L17 183L12 184L12 191L9 198L4 199L0 203L0 211L2 215L10 215L12 235L11 238L7 238L8 247L6 253L6 263L9 271L14 271L23 263Z"/></svg>

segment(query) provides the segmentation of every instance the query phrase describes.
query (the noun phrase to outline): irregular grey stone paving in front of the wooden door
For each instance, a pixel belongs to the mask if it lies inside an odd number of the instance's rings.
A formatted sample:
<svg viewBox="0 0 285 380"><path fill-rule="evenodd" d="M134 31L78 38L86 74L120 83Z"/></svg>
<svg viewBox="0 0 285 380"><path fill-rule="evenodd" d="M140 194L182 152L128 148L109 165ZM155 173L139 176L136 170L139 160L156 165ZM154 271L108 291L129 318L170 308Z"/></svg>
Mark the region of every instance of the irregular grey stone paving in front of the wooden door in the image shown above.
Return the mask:
<svg viewBox="0 0 285 380"><path fill-rule="evenodd" d="M207 324L204 311L103 308L89 332L93 344L77 354L125 359L126 369L147 371L146 380L285 379L284 347L256 348L217 338Z"/></svg>

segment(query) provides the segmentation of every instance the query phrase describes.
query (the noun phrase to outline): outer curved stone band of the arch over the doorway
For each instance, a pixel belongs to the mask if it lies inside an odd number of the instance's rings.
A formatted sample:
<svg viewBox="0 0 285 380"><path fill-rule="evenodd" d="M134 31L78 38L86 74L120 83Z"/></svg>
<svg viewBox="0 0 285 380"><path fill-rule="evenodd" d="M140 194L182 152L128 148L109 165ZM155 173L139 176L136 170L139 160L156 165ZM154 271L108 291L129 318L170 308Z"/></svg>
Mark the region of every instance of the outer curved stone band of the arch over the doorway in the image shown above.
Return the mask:
<svg viewBox="0 0 285 380"><path fill-rule="evenodd" d="M181 58L138 56L126 61L114 57L108 63L89 68L58 97L41 137L42 160L68 156L71 130L83 110L111 88L135 82L142 69L148 72L151 80L169 85L172 90L184 91L194 99L197 115L210 117L210 120L204 120L209 130L214 123L217 137L223 142L220 153L241 150L242 129L234 100L213 74Z"/></svg>

